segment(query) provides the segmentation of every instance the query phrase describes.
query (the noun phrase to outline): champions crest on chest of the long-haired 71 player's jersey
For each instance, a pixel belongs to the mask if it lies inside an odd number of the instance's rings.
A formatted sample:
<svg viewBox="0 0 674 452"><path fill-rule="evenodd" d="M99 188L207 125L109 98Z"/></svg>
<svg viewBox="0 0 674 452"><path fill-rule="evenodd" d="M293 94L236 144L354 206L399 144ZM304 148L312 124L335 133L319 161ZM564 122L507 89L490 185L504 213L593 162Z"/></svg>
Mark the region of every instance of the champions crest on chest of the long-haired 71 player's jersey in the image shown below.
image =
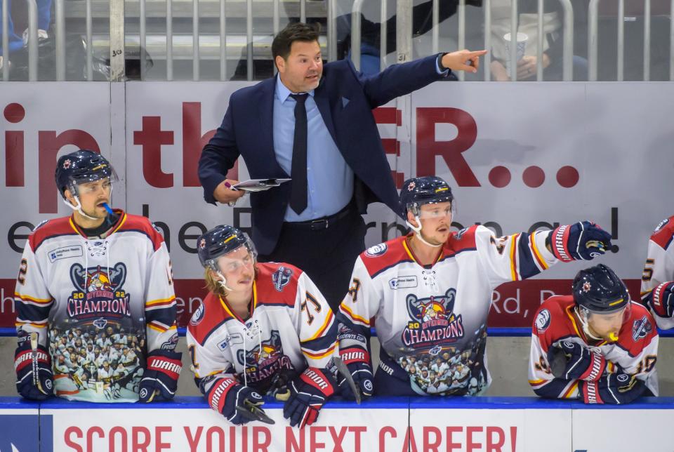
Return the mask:
<svg viewBox="0 0 674 452"><path fill-rule="evenodd" d="M268 340L251 350L239 349L237 360L244 366L247 380L253 383L271 378L281 369L293 369L290 358L283 354L278 330L272 330Z"/></svg>

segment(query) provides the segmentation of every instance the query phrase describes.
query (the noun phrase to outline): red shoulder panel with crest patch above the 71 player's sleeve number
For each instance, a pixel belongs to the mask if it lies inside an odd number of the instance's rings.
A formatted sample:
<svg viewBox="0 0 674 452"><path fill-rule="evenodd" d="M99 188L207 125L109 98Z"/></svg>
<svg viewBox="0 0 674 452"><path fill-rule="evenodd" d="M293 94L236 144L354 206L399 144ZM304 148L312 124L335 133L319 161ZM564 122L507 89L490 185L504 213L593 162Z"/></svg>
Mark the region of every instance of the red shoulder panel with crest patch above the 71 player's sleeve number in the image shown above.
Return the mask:
<svg viewBox="0 0 674 452"><path fill-rule="evenodd" d="M302 270L285 262L258 263L256 305L293 307L300 274Z"/></svg>

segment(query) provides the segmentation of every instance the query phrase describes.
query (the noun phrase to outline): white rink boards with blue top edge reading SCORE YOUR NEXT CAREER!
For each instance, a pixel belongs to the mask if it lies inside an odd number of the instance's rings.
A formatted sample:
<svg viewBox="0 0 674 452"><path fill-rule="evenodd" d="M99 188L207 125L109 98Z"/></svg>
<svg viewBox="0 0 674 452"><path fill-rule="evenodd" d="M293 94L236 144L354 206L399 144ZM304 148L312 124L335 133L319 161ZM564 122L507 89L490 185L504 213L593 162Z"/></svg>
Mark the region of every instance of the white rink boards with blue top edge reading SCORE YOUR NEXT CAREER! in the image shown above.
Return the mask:
<svg viewBox="0 0 674 452"><path fill-rule="evenodd" d="M671 451L674 398L586 406L536 397L331 401L303 430L282 404L275 425L234 427L199 397L171 403L91 404L0 397L0 452L31 451Z"/></svg>

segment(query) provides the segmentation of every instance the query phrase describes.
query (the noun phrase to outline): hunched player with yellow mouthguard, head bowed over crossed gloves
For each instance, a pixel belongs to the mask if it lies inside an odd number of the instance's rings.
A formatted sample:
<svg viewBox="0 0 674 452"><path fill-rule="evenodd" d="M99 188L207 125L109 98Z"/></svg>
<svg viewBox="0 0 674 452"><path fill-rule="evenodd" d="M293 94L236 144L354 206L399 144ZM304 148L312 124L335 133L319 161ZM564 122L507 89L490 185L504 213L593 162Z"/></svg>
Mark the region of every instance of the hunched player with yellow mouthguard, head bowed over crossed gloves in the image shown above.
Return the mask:
<svg viewBox="0 0 674 452"><path fill-rule="evenodd" d="M613 270L581 270L572 295L543 302L531 331L529 384L541 397L628 404L658 395L658 332Z"/></svg>

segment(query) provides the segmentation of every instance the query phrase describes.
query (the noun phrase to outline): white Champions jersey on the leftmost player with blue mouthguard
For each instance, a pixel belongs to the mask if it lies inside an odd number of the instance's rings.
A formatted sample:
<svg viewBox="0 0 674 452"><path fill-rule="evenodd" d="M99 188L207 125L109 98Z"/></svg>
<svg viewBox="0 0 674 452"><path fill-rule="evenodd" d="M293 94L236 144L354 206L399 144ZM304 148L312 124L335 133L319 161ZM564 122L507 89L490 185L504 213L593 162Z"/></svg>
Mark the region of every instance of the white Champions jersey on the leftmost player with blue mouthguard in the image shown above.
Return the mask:
<svg viewBox="0 0 674 452"><path fill-rule="evenodd" d="M54 366L60 355L82 350L90 354L95 347L95 363L87 361L81 371L79 364L71 363L69 373L55 379L55 394L67 399L137 401L137 390L122 390L110 400L103 393L105 385L83 387L72 375L95 382L101 380L104 361L117 367L117 361L110 361L110 352L114 350L114 356L118 351L114 337L128 339L119 341L119 352L131 343L144 343L147 351L173 350L178 341L176 296L164 239L147 218L115 212L119 219L105 239L88 239L72 218L58 218L30 234L22 255L15 290L17 334L37 331ZM74 350L75 344L81 344L81 350ZM138 368L144 367L142 357ZM139 369L131 372L136 380Z"/></svg>

